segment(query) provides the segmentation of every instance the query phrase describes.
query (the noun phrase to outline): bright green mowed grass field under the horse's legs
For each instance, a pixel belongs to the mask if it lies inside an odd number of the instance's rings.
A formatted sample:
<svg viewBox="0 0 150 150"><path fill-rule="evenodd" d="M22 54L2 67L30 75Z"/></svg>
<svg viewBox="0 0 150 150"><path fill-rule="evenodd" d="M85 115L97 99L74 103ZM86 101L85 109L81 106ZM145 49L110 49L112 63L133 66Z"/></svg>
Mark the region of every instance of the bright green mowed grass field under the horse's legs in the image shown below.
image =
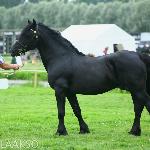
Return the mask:
<svg viewBox="0 0 150 150"><path fill-rule="evenodd" d="M34 139L38 150L150 149L150 116L146 110L141 120L142 136L127 133L134 118L130 94L112 91L97 96L78 95L78 99L91 133L78 134L77 119L67 102L65 124L69 135L56 136L53 90L27 86L0 90L0 140Z"/></svg>

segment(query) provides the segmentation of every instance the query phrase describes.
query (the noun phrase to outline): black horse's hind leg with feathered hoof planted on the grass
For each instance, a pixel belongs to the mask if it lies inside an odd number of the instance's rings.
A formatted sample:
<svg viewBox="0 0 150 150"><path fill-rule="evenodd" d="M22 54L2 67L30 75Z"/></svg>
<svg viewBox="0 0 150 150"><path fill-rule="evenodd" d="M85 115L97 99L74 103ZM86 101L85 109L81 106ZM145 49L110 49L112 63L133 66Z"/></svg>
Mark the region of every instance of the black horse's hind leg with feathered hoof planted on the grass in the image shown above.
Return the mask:
<svg viewBox="0 0 150 150"><path fill-rule="evenodd" d="M135 112L135 118L134 123L131 128L130 134L133 134L135 136L141 135L141 127L140 127L140 118L143 111L144 106L146 106L146 109L149 111L150 109L150 97L145 91L135 92L132 93L132 99L134 104L134 112Z"/></svg>

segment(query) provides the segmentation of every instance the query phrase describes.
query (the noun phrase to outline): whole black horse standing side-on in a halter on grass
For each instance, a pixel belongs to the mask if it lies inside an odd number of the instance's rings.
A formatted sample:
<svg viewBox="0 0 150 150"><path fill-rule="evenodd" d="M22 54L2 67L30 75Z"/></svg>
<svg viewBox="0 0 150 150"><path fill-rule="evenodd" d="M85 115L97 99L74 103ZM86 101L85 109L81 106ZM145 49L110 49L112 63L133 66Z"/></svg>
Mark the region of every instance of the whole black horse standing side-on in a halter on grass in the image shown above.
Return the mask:
<svg viewBox="0 0 150 150"><path fill-rule="evenodd" d="M150 113L149 56L129 51L103 57L85 56L59 32L33 20L28 21L13 45L12 56L35 48L48 73L49 85L55 90L59 119L57 134L67 134L64 125L66 98L78 118L80 133L89 133L76 94L96 95L114 88L131 93L135 119L129 133L141 134L140 118L144 106Z"/></svg>

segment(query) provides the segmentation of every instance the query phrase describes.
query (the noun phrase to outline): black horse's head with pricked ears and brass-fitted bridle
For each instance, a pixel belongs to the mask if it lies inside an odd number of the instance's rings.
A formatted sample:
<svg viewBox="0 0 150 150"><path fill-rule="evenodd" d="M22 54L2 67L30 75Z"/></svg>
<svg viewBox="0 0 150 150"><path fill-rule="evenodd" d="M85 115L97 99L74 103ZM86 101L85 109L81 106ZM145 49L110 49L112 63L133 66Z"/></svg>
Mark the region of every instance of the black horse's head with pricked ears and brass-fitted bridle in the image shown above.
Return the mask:
<svg viewBox="0 0 150 150"><path fill-rule="evenodd" d="M22 30L18 41L12 46L11 55L19 56L29 50L35 49L38 41L38 25L28 20L28 25Z"/></svg>

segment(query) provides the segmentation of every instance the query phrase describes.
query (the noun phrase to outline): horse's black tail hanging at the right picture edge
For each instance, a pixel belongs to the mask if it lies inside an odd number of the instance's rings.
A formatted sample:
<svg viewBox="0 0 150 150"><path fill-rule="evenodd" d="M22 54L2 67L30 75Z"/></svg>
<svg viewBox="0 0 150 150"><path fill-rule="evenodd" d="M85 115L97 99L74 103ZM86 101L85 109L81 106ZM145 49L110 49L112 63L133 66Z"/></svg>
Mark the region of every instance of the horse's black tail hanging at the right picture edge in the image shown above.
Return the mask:
<svg viewBox="0 0 150 150"><path fill-rule="evenodd" d="M146 65L146 69L147 69L146 91L148 95L150 96L150 56L148 56L147 54L142 54L142 53L138 53L138 54L139 54L140 59ZM150 103L146 104L146 109L150 113Z"/></svg>

